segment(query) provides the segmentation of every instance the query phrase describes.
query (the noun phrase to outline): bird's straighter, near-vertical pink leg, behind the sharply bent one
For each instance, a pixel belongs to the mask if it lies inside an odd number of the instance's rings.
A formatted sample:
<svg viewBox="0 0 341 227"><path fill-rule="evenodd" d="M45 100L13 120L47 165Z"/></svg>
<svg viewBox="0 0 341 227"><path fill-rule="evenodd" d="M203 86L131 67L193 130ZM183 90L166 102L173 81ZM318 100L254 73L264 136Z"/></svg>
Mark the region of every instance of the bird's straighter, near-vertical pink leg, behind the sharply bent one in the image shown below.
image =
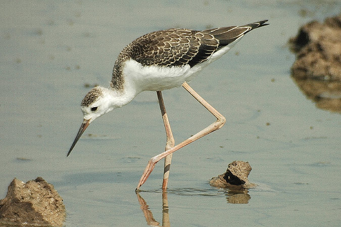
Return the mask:
<svg viewBox="0 0 341 227"><path fill-rule="evenodd" d="M159 92L157 92L157 94L158 94L158 100L159 100L159 105L160 105L163 123L164 123L165 129L166 129L167 142L166 142L165 151L167 151L167 150L171 149L172 147L174 147L175 142L174 142L173 133L172 133L172 130L170 128L169 121L168 121L165 104L164 104L163 98L162 98L162 93L161 93L161 91L159 91ZM165 167L164 167L164 172L163 172L162 190L167 189L170 164L172 161L172 155L173 154L169 154L165 157Z"/></svg>

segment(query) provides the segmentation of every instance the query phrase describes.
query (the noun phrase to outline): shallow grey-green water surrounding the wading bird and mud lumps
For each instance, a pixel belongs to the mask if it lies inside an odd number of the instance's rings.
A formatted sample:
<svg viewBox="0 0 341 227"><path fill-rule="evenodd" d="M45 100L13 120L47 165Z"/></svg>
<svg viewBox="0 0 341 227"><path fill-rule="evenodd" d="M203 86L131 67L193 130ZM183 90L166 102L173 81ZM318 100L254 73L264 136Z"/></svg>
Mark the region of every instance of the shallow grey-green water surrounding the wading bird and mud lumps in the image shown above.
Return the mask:
<svg viewBox="0 0 341 227"><path fill-rule="evenodd" d="M341 116L300 92L286 42L304 23L340 8L337 1L3 2L0 197L14 177L42 176L64 198L66 226L147 226L151 212L172 226L339 225ZM134 38L263 19L270 25L243 37L190 83L227 122L174 153L168 194L160 190L162 163L140 197L134 192L149 158L165 146L154 92L91 123L66 158L86 85L108 84L117 55ZM176 142L214 121L182 88L163 96ZM233 203L233 193L208 184L233 160L253 168L249 179L258 187L248 190L247 203Z"/></svg>

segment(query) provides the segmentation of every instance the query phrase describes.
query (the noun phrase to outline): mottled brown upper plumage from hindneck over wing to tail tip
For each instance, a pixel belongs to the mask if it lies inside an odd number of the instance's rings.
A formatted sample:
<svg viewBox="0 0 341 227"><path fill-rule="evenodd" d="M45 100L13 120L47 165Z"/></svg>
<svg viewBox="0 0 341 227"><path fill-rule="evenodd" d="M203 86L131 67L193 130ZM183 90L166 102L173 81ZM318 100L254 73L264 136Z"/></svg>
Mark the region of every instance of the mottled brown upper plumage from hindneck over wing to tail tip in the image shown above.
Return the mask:
<svg viewBox="0 0 341 227"><path fill-rule="evenodd" d="M143 66L190 67L208 60L214 52L235 41L257 27L265 26L267 20L247 24L194 31L168 29L145 34L125 47L119 54L113 70L111 86L122 89L124 62L133 59Z"/></svg>

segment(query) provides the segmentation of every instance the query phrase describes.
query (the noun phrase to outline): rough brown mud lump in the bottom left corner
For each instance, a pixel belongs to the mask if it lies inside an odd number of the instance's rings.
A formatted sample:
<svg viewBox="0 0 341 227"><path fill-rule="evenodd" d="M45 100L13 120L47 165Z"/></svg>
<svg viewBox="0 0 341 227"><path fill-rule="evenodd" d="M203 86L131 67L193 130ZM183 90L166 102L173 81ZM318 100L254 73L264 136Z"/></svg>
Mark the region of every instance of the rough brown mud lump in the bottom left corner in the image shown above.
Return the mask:
<svg viewBox="0 0 341 227"><path fill-rule="evenodd" d="M64 220L63 199L41 177L26 184L14 178L6 198L0 200L0 225L63 226Z"/></svg>

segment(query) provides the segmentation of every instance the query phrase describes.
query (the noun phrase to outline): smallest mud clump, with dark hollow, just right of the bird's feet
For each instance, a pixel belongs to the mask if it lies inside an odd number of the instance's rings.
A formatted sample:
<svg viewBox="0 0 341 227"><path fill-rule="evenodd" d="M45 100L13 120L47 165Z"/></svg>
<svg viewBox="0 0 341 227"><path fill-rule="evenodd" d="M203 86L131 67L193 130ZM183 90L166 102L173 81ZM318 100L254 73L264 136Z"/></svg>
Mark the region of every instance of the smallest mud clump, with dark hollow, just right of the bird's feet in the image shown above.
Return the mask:
<svg viewBox="0 0 341 227"><path fill-rule="evenodd" d="M228 164L225 173L213 177L210 185L218 188L249 189L256 185L249 182L248 176L251 171L249 162L233 161Z"/></svg>

